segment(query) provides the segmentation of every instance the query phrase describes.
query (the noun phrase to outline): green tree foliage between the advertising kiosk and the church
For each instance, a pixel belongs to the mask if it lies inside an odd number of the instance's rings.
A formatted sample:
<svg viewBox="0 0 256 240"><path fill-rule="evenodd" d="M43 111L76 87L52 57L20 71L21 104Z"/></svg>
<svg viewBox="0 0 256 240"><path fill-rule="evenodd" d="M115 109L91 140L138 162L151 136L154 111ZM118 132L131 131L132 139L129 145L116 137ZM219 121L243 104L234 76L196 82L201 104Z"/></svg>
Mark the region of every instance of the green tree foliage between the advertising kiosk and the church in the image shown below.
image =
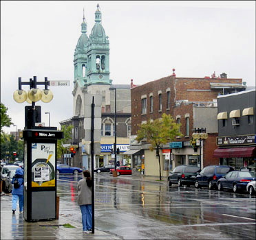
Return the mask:
<svg viewBox="0 0 256 240"><path fill-rule="evenodd" d="M57 142L57 158L64 158L64 154L67 154L69 147L64 147L65 143L69 143L72 139L72 128L73 125L62 125L61 131L63 131L64 138L58 139Z"/></svg>

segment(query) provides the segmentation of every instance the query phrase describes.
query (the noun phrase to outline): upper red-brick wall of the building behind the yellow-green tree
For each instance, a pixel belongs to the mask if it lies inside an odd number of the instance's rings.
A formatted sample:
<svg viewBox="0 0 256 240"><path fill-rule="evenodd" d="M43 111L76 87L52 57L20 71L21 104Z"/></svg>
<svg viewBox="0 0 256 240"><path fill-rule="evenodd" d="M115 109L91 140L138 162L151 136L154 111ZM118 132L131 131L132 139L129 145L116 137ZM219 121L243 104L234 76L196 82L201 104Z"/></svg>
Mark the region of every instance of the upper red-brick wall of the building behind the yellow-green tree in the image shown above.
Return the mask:
<svg viewBox="0 0 256 240"><path fill-rule="evenodd" d="M147 82L141 86L131 88L131 121L132 132L138 131L138 124L147 119L158 119L165 112L173 116L175 101L187 99L189 101L213 101L222 93L222 88L211 89L210 83L242 84L242 79L207 79L192 77L162 77L159 80ZM171 108L167 110L167 88L171 91ZM158 91L162 91L162 111L158 109ZM153 112L149 112L149 94L153 93ZM142 95L147 95L147 114L142 115Z"/></svg>

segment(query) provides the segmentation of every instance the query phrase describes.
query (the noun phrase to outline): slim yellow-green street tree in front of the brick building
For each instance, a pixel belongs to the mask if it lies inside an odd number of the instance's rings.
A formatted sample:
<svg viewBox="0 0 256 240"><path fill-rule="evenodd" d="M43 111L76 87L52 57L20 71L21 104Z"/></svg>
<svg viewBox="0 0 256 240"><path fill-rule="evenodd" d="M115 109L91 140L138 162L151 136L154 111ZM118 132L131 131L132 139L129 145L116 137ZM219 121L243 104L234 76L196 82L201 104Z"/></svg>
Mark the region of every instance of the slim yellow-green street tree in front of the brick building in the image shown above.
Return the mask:
<svg viewBox="0 0 256 240"><path fill-rule="evenodd" d="M140 125L140 129L137 132L136 141L147 140L150 144L149 149L153 151L156 149L156 156L158 156L159 163L159 177L161 176L161 163L159 151L164 144L174 141L176 136L182 136L180 132L180 123L175 123L171 115L163 114L162 118L156 120L148 120L147 123Z"/></svg>

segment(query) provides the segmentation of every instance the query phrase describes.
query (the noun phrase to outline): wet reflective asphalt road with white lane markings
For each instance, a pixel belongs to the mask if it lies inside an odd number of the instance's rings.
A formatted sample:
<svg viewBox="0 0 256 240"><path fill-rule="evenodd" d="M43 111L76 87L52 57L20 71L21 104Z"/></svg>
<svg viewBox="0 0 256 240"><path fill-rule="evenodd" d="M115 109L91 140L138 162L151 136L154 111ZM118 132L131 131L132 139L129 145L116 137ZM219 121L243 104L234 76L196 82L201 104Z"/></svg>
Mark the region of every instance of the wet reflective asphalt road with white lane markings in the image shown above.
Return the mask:
<svg viewBox="0 0 256 240"><path fill-rule="evenodd" d="M95 227L122 239L255 239L255 196L167 182L94 175ZM60 175L60 211L81 222L76 185L81 175Z"/></svg>

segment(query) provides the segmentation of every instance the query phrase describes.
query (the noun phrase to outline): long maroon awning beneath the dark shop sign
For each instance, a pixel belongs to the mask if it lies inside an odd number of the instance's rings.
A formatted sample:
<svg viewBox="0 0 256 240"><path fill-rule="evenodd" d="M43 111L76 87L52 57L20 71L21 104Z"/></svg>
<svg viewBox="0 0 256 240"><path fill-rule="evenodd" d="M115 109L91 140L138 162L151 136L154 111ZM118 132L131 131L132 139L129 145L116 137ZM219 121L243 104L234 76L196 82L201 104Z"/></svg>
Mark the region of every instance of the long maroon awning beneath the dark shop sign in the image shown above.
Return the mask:
<svg viewBox="0 0 256 240"><path fill-rule="evenodd" d="M217 148L213 152L214 158L240 158L251 157L256 155L256 147L231 147Z"/></svg>

